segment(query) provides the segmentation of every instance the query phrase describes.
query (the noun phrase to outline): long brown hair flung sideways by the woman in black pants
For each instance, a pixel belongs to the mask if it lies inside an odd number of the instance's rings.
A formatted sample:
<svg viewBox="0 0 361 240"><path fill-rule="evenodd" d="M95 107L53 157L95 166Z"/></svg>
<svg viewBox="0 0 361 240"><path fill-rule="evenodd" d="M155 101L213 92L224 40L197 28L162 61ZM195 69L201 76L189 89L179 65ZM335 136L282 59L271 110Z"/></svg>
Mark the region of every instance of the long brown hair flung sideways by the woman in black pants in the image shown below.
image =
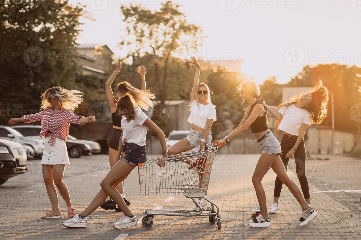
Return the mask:
<svg viewBox="0 0 361 240"><path fill-rule="evenodd" d="M330 98L329 90L321 80L318 80L317 85L312 90L296 94L289 101L278 105L276 109L297 103L300 97L305 94L312 95L310 105L304 107L311 114L311 123L320 124L327 117L327 103Z"/></svg>

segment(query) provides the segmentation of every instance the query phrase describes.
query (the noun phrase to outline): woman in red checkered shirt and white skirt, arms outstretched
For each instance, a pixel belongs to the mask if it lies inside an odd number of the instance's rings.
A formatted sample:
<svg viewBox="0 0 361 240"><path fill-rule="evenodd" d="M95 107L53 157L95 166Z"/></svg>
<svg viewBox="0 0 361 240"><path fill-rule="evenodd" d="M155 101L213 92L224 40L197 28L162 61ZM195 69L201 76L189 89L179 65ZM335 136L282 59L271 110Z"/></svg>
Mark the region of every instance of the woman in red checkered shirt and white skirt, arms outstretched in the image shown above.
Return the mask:
<svg viewBox="0 0 361 240"><path fill-rule="evenodd" d="M81 97L82 92L52 87L41 96L43 111L9 120L10 124L42 121L40 137L44 137L45 142L41 164L44 183L52 207L42 218L62 217L54 184L68 206L68 216L74 217L76 214L70 201L68 187L63 181L65 166L70 164L65 142L69 134L69 123L83 125L95 121L95 116L83 117L73 113L74 109L83 102Z"/></svg>

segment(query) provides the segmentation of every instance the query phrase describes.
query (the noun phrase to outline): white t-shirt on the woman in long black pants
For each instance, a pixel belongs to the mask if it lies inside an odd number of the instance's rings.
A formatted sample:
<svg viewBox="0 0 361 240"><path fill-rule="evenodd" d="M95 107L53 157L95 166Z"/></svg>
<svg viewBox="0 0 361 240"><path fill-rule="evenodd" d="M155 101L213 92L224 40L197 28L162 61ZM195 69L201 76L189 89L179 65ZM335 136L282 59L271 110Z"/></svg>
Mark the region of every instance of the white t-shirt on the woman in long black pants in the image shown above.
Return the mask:
<svg viewBox="0 0 361 240"><path fill-rule="evenodd" d="M299 135L302 123L311 124L311 114L304 108L295 107L295 104L282 106L278 112L283 115L278 129L292 135Z"/></svg>

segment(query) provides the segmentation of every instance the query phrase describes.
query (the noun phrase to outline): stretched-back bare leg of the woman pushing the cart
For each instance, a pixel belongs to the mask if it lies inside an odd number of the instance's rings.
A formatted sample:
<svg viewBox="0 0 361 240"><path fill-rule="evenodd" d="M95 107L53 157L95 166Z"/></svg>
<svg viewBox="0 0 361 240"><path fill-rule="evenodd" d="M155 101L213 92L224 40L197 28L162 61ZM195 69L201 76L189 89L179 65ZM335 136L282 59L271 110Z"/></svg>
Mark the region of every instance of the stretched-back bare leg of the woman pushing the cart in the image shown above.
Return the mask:
<svg viewBox="0 0 361 240"><path fill-rule="evenodd" d="M297 184L293 182L292 179L287 175L286 168L284 168L280 156L277 156L274 159L272 169L277 174L279 179L283 182L283 184L288 187L292 195L297 199L297 201L301 205L302 210L307 211L310 207L309 205L307 205L307 202L305 201L303 194L301 193L301 190L299 189Z"/></svg>

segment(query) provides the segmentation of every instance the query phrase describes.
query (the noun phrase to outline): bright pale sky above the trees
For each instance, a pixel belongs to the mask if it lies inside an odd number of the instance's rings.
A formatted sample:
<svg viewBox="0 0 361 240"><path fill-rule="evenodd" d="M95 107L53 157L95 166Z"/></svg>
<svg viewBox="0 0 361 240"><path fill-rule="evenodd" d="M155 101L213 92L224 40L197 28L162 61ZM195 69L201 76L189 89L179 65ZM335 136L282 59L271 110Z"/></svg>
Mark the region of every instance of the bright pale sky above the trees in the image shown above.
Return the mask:
<svg viewBox="0 0 361 240"><path fill-rule="evenodd" d="M115 57L125 28L121 4L157 9L162 0L70 0L86 4L96 21L84 20L79 44L106 43ZM165 1L165 0L163 0ZM361 0L173 0L187 20L207 36L199 49L204 60L245 59L242 72L257 83L276 76L290 81L306 64L335 63L361 67ZM216 59L214 59L216 60Z"/></svg>

